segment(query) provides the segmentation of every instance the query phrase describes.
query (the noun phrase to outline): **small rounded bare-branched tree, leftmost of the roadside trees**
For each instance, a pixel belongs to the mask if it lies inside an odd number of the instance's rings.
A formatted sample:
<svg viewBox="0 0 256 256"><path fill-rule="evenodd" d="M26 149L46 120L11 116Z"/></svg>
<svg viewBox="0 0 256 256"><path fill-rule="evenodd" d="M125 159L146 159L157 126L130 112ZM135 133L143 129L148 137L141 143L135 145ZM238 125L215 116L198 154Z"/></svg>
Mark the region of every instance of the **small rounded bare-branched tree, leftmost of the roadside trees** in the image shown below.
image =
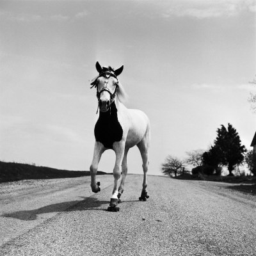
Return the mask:
<svg viewBox="0 0 256 256"><path fill-rule="evenodd" d="M164 175L170 175L170 177L172 177L173 174L177 177L177 174L182 173L184 168L184 162L182 160L170 155L166 157L161 166Z"/></svg>

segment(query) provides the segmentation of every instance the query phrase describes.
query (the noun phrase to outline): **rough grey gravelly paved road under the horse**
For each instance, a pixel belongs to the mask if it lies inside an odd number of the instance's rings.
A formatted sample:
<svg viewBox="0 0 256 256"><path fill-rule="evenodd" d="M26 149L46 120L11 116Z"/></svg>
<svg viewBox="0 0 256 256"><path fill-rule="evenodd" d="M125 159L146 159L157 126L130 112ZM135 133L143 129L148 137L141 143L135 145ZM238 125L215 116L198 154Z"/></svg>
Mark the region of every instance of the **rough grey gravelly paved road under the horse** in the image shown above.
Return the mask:
<svg viewBox="0 0 256 256"><path fill-rule="evenodd" d="M237 185L128 175L120 212L113 178L0 184L0 255L256 255L256 197ZM250 185L247 185L250 186Z"/></svg>

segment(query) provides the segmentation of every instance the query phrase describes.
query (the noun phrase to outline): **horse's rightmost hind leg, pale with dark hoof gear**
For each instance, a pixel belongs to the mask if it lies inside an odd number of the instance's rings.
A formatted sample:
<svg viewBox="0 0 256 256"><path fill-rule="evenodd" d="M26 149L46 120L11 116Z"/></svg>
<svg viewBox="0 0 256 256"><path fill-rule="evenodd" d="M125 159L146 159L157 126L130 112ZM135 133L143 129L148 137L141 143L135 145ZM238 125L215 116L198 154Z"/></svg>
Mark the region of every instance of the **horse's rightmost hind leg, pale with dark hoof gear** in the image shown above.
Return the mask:
<svg viewBox="0 0 256 256"><path fill-rule="evenodd" d="M147 172L148 172L148 137L145 136L138 144L138 148L140 150L141 158L142 158L142 168L143 168L143 184L142 191L139 200L146 201L149 198L147 194Z"/></svg>

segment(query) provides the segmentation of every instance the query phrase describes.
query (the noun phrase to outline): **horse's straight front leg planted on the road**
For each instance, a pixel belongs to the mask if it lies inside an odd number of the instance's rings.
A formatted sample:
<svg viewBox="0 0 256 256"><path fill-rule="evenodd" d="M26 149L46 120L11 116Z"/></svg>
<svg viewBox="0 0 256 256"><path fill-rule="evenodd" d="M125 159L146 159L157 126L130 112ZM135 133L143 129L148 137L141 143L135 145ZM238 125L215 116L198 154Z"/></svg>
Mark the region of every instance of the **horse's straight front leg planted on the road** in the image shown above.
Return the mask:
<svg viewBox="0 0 256 256"><path fill-rule="evenodd" d="M121 142L115 142L113 144L113 150L115 151L116 154L116 161L115 161L115 167L113 170L113 175L114 175L114 188L112 192L112 196L110 198L110 204L108 207L108 211L119 211L118 205L118 180L120 179L121 172L122 172L122 160L124 157L124 148L125 148L125 143L123 141Z"/></svg>

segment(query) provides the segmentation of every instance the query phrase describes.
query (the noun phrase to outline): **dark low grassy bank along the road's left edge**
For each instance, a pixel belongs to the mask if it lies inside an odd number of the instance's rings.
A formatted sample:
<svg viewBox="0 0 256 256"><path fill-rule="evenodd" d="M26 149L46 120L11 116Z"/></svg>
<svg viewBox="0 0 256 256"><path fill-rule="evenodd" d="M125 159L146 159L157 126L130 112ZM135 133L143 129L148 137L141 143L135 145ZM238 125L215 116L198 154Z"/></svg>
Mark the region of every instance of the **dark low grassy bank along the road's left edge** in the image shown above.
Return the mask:
<svg viewBox="0 0 256 256"><path fill-rule="evenodd" d="M98 172L97 175L107 174ZM0 161L0 182L10 182L24 179L60 179L89 176L89 171L59 170L33 164L5 163Z"/></svg>

